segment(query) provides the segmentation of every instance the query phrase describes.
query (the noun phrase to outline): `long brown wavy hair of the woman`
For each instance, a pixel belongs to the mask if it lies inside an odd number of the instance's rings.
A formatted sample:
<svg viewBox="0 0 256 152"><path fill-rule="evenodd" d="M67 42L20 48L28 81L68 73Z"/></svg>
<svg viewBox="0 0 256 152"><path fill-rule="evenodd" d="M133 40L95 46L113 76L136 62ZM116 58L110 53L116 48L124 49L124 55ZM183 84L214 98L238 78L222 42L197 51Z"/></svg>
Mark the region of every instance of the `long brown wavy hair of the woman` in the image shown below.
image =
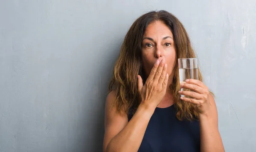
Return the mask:
<svg viewBox="0 0 256 152"><path fill-rule="evenodd" d="M192 48L189 36L182 23L168 11L150 11L143 14L131 25L122 43L119 57L116 61L113 77L109 84L109 92L115 93L113 108L120 114L128 114L130 108L137 108L140 104L140 96L137 88L137 75L143 75L141 58L143 35L147 26L154 21L163 21L172 31L175 51L176 64L174 69L173 83L169 86L175 101L178 120L193 120L198 118L198 110L195 104L180 100L178 58L195 58L195 51ZM142 76L143 78L143 76ZM203 81L203 77L198 68L198 79ZM145 78L143 78L145 82Z"/></svg>

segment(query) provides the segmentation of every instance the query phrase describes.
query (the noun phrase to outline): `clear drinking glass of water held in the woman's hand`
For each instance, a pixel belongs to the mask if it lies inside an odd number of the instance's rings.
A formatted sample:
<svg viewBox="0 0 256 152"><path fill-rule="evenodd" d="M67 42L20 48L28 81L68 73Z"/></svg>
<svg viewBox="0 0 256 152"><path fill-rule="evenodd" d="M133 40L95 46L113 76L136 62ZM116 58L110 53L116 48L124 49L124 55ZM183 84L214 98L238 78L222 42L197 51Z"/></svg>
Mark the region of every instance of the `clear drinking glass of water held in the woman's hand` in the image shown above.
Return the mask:
<svg viewBox="0 0 256 152"><path fill-rule="evenodd" d="M184 83L186 79L198 79L198 59L197 58L180 58L178 59L178 64L179 64L180 83L181 82ZM181 91L183 90L192 91L186 88L181 88Z"/></svg>

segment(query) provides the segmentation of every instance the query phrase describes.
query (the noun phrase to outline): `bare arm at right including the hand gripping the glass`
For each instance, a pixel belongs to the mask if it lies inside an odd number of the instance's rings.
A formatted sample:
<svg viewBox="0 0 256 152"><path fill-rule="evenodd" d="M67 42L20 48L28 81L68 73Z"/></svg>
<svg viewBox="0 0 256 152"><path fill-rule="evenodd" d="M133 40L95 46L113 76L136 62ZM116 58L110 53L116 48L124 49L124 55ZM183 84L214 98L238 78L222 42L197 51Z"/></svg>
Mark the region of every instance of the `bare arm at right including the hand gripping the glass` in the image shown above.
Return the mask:
<svg viewBox="0 0 256 152"><path fill-rule="evenodd" d="M180 85L195 91L179 91L179 93L192 97L181 97L180 99L195 104L198 108L201 152L224 152L221 135L218 131L217 107L208 87L203 82L195 79L188 79L186 83Z"/></svg>

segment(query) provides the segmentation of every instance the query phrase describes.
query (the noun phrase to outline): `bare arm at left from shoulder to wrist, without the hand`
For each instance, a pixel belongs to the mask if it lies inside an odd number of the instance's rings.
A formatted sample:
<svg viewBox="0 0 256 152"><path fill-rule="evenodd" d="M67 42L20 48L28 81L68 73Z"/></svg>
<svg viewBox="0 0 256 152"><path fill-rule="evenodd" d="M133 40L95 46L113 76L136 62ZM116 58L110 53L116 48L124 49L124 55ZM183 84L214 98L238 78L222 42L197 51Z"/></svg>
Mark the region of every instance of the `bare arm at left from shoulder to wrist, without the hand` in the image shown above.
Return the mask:
<svg viewBox="0 0 256 152"><path fill-rule="evenodd" d="M111 110L113 95L108 95L105 113L104 152L137 152L154 110L140 105L128 122L127 115Z"/></svg>

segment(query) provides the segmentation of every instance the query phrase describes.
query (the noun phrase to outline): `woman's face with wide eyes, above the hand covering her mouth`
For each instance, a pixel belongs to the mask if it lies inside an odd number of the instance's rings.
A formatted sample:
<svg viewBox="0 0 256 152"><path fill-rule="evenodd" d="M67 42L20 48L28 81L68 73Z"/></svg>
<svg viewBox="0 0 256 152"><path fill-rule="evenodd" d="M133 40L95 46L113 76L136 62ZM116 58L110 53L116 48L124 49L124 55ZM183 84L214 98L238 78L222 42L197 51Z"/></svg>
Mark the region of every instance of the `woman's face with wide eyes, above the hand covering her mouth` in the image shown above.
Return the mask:
<svg viewBox="0 0 256 152"><path fill-rule="evenodd" d="M176 61L176 51L171 30L162 21L148 25L142 42L143 69L148 77L157 59L165 59L168 65L167 73L173 76ZM170 79L169 79L170 80Z"/></svg>

